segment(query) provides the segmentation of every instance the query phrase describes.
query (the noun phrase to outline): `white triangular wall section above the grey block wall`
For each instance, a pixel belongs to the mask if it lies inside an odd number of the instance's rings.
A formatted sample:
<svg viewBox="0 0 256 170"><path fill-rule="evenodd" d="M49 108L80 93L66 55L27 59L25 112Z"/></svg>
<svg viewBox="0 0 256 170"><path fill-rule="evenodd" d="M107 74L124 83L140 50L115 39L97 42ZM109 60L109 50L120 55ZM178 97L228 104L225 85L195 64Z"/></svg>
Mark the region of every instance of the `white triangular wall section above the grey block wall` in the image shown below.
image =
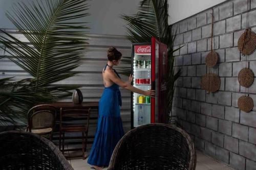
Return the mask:
<svg viewBox="0 0 256 170"><path fill-rule="evenodd" d="M178 22L227 0L168 0L169 24Z"/></svg>

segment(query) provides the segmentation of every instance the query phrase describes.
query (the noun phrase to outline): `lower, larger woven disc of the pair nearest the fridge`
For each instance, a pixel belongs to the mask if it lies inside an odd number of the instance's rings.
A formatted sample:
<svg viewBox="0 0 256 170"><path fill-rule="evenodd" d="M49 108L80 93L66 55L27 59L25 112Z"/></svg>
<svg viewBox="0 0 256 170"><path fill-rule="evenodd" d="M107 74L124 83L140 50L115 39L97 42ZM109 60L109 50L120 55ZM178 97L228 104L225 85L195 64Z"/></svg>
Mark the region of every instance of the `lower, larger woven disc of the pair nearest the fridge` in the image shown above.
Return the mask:
<svg viewBox="0 0 256 170"><path fill-rule="evenodd" d="M207 73L201 79L201 86L209 92L218 91L221 87L221 79L214 73Z"/></svg>

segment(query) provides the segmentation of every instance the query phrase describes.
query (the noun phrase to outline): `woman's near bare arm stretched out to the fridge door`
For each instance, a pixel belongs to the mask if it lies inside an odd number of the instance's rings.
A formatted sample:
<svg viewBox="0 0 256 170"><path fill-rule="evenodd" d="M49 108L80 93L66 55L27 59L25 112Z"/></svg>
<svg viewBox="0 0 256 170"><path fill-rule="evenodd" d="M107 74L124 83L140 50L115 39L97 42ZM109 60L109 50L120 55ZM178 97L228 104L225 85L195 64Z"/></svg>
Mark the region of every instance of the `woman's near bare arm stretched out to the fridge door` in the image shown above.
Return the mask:
<svg viewBox="0 0 256 170"><path fill-rule="evenodd" d="M138 88L132 86L130 81L128 81L128 82L122 81L115 74L114 70L106 70L105 74L106 74L106 76L108 76L108 78L112 82L116 83L117 85L119 85L120 87L122 87L124 89L130 90L130 91L135 92L135 93L143 94L143 95L148 95L148 96L152 96L152 97L155 96L155 90L146 90L146 91L144 91L144 90L138 89Z"/></svg>

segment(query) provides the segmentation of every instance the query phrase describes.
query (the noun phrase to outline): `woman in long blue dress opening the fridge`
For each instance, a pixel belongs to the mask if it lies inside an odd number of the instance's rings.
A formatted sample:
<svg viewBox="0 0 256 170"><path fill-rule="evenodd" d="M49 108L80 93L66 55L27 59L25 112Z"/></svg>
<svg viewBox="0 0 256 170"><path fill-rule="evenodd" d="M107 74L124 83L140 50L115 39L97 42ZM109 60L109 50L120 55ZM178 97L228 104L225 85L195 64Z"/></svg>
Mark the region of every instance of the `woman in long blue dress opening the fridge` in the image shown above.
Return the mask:
<svg viewBox="0 0 256 170"><path fill-rule="evenodd" d="M124 135L122 120L120 117L120 106L122 105L119 86L148 96L155 96L155 90L143 91L131 85L133 76L124 82L113 68L121 62L122 54L111 47L108 50L108 63L102 71L104 91L99 101L98 125L91 149L88 163L94 169L103 169L109 166L111 155L117 142Z"/></svg>

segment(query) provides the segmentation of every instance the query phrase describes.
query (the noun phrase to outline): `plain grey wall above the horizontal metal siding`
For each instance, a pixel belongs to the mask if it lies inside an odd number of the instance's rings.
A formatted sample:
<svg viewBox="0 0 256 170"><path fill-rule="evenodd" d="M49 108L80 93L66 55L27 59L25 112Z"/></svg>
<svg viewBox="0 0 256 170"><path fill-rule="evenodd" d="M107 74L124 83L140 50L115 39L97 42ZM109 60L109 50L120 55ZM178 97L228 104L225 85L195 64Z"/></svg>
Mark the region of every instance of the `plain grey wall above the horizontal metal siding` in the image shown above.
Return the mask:
<svg viewBox="0 0 256 170"><path fill-rule="evenodd" d="M36 1L36 0L29 0ZM27 2L27 0L0 0L0 28L15 29L15 26L5 16L13 3ZM89 16L85 22L90 22L90 33L92 34L109 34L109 35L126 35L125 22L120 18L120 14L136 14L138 0L92 0L90 4Z"/></svg>

